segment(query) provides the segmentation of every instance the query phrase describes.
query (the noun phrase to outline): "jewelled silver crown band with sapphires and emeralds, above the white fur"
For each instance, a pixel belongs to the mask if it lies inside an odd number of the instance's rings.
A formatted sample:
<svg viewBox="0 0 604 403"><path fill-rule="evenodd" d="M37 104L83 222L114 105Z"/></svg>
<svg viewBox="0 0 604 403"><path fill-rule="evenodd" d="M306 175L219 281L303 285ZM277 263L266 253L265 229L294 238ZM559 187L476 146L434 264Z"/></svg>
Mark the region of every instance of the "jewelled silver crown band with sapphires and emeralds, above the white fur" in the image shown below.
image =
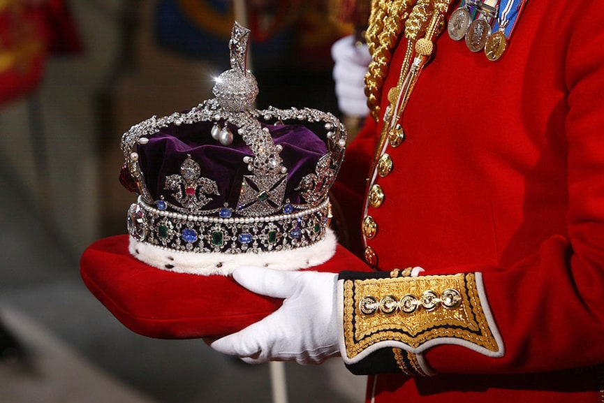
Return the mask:
<svg viewBox="0 0 604 403"><path fill-rule="evenodd" d="M258 253L319 242L329 218L329 199L293 214L221 218L158 210L139 198L128 210L128 232L135 240L173 251Z"/></svg>

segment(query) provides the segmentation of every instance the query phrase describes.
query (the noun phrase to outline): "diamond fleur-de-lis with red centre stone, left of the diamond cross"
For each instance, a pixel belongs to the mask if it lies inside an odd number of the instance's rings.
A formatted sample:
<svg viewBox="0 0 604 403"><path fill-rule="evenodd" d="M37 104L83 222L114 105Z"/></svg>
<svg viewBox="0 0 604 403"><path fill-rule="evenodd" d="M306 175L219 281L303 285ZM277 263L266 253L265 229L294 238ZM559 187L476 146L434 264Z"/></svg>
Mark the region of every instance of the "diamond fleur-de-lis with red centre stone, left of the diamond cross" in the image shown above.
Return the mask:
<svg viewBox="0 0 604 403"><path fill-rule="evenodd" d="M164 189L175 191L172 196L182 206L174 206L175 209L199 213L203 206L212 201L207 195L220 196L216 182L200 175L199 164L191 159L191 154L186 154L186 159L180 166L180 175L165 177Z"/></svg>

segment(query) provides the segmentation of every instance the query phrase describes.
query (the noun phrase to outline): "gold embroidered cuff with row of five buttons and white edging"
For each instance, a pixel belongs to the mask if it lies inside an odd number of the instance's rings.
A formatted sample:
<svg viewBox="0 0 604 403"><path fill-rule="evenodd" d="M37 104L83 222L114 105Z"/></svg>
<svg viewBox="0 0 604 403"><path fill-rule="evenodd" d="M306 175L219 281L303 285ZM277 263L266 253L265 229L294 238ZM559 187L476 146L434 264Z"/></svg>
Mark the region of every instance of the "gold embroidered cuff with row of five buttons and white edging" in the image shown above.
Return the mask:
<svg viewBox="0 0 604 403"><path fill-rule="evenodd" d="M385 347L422 353L437 344L503 356L480 273L344 279L341 293L348 363Z"/></svg>

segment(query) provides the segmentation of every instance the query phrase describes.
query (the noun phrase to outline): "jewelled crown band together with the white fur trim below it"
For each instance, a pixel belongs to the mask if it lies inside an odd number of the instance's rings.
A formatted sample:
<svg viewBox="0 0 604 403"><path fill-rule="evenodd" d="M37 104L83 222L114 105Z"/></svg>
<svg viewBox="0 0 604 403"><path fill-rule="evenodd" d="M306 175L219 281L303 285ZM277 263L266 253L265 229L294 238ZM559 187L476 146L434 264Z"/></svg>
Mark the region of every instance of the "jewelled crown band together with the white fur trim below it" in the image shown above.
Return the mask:
<svg viewBox="0 0 604 403"><path fill-rule="evenodd" d="M226 219L157 210L139 198L128 211L129 250L172 272L227 275L246 265L298 270L333 256L329 218L329 200L304 212Z"/></svg>

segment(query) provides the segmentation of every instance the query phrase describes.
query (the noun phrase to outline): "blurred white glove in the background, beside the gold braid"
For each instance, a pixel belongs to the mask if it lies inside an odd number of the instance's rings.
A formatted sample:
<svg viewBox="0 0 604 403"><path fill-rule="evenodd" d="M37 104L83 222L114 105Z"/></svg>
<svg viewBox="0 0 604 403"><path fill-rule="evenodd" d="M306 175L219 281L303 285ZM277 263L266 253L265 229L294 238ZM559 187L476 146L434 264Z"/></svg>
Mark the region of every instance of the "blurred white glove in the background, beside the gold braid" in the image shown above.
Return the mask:
<svg viewBox="0 0 604 403"><path fill-rule="evenodd" d="M365 74L371 61L367 45L355 45L355 38L344 36L332 45L333 78L338 107L344 115L364 117L369 113L365 95Z"/></svg>

